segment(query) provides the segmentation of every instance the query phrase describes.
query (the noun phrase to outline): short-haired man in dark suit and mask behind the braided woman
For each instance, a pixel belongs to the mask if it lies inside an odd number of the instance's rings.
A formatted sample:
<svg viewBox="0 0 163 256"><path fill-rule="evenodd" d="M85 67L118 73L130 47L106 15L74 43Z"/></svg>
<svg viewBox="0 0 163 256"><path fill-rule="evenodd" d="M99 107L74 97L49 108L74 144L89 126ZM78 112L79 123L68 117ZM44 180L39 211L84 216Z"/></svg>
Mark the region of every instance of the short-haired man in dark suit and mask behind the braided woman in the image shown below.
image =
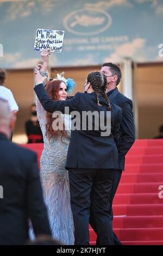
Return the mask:
<svg viewBox="0 0 163 256"><path fill-rule="evenodd" d="M133 117L133 102L126 96L118 92L117 86L121 81L121 69L118 65L113 63L104 63L102 65L101 72L106 76L108 86L107 95L109 100L122 108L122 122L120 125L120 142L117 146L118 149L118 168L114 172L114 179L112 182L112 190L110 197L110 215L113 219L112 212L112 201L114 199L117 187L121 180L122 171L124 170L125 156L135 141L135 125ZM90 211L91 212L91 211ZM95 221L93 220L92 214L90 215L90 224L96 231ZM98 243L98 239L97 239ZM118 240L114 234L114 245L121 245L122 243Z"/></svg>

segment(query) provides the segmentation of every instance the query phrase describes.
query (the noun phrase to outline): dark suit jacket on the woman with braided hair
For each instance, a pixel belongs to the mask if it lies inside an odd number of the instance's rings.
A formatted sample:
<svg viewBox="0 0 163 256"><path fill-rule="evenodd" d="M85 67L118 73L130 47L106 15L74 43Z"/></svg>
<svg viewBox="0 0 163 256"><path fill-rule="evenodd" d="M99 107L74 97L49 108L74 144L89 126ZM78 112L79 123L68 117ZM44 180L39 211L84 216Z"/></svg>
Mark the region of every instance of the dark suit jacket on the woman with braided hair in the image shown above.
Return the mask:
<svg viewBox="0 0 163 256"><path fill-rule="evenodd" d="M96 94L77 93L72 99L65 101L52 101L48 96L43 84L34 88L43 108L53 113L61 111L65 113L65 107L69 107L70 112L78 111L80 117L84 111L103 111L106 121L107 103L103 96L100 96L102 107L97 105ZM115 141L118 142L120 137L119 127L122 118L122 109L114 104L111 105L111 130L114 131ZM71 113L72 114L72 113ZM99 121L99 120L98 120ZM83 124L80 123L81 125ZM95 130L95 122L92 122L92 131L72 130L70 145L68 148L66 168L83 168L83 169L109 169L118 168L117 147L114 142L113 134L101 136L102 129Z"/></svg>

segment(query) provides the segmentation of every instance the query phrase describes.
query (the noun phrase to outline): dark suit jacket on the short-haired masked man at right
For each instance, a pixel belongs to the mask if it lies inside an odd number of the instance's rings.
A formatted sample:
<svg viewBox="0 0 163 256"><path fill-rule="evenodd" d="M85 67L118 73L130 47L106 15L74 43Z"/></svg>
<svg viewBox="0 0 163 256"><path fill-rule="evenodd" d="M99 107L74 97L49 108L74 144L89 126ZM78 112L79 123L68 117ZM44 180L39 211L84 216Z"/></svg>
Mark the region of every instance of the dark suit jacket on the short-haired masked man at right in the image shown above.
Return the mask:
<svg viewBox="0 0 163 256"><path fill-rule="evenodd" d="M118 92L117 88L109 95L109 99L111 102L122 108L122 122L120 125L121 137L117 148L119 163L118 169L124 170L125 155L135 141L133 102Z"/></svg>

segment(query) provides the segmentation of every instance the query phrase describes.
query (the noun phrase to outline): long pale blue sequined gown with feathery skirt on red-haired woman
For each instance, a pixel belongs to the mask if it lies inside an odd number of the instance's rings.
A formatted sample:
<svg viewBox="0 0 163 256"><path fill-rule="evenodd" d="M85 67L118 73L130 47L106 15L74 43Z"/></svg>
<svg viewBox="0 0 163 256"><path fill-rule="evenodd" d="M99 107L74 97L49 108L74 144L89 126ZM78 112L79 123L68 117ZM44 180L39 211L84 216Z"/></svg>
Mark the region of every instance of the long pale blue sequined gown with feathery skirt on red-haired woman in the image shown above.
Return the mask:
<svg viewBox="0 0 163 256"><path fill-rule="evenodd" d="M71 136L71 117L61 114L68 138L61 136L46 137L46 111L36 98L37 117L39 119L44 147L40 159L40 177L47 205L52 235L65 245L74 244L74 226L70 205L68 171L65 169L68 145Z"/></svg>

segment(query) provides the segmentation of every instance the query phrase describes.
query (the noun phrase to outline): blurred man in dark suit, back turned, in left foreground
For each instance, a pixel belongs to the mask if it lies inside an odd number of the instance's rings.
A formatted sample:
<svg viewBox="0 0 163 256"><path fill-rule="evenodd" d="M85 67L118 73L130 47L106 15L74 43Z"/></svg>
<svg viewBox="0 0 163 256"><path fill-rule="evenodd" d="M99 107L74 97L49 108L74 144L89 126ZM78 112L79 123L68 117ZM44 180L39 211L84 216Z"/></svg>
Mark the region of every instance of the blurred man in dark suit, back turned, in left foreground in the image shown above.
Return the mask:
<svg viewBox="0 0 163 256"><path fill-rule="evenodd" d="M37 156L10 141L15 115L0 98L0 245L23 245L29 239L28 219L35 235L51 235L43 202Z"/></svg>

